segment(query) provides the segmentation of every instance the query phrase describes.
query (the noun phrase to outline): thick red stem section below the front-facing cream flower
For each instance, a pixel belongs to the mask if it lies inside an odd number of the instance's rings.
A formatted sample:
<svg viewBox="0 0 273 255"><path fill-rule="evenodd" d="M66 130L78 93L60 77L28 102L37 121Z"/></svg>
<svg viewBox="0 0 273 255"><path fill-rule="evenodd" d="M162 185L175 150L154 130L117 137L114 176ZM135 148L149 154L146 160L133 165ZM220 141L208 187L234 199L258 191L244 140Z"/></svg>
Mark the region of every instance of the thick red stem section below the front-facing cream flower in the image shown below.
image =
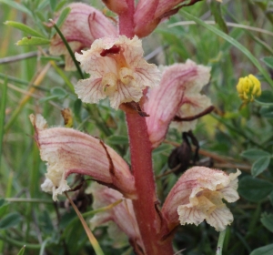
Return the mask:
<svg viewBox="0 0 273 255"><path fill-rule="evenodd" d="M133 200L136 220L147 255L173 254L171 241L161 242L160 218L156 210L156 184L152 167L152 148L145 117L126 113L130 140L131 165L136 181L137 198ZM158 234L157 234L158 233Z"/></svg>

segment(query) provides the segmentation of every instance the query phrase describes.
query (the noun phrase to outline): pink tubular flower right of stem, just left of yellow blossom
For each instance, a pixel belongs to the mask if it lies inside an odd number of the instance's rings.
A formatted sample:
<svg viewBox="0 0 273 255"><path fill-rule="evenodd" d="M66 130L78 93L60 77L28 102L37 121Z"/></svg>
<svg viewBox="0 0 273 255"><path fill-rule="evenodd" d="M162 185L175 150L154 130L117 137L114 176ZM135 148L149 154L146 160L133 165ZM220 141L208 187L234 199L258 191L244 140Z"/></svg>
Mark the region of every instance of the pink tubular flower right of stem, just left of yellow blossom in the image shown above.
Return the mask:
<svg viewBox="0 0 273 255"><path fill-rule="evenodd" d="M164 69L159 87L147 93L144 109L147 130L153 148L164 140L167 128L174 118L194 117L211 106L210 99L200 94L209 80L210 68L197 66L191 60L185 64L175 64ZM197 120L175 123L181 132L195 128Z"/></svg>

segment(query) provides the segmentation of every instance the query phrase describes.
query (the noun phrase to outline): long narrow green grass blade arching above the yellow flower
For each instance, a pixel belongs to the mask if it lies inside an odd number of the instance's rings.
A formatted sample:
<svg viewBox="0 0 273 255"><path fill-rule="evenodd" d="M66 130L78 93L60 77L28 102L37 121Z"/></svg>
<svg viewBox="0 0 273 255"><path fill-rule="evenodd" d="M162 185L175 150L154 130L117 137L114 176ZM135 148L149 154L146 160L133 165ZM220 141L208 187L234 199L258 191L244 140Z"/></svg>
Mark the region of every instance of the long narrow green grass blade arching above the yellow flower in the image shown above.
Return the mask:
<svg viewBox="0 0 273 255"><path fill-rule="evenodd" d="M185 17L187 17L188 19L193 20L194 22L196 22L198 25L203 26L205 28L207 28L209 31L213 32L214 34L216 34L217 36L222 37L223 39L225 39L227 42L229 42L230 44L232 44L233 46L236 46L243 54L245 54L245 56L248 56L248 59L254 64L254 66L256 66L258 68L258 71L265 77L265 79L267 80L268 84L273 87L273 80L271 79L271 77L268 75L268 71L266 69L264 69L258 62L258 59L252 55L252 53L243 45L241 45L237 40L235 40L234 38L228 36L227 34L225 34L224 32L220 31L219 29L217 29L214 26L210 26L207 25L204 21L202 21L201 19L197 18L194 15L190 15L188 14L186 11L184 10L180 10L179 11L180 14L184 15Z"/></svg>

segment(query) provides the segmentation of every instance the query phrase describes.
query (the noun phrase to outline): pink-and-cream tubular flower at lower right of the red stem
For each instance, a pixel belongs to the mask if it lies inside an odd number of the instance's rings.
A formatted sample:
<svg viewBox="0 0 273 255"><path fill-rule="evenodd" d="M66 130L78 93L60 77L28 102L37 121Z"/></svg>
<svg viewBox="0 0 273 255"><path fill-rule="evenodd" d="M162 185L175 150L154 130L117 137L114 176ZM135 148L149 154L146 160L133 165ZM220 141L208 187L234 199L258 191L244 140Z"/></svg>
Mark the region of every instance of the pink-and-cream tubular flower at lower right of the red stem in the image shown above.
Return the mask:
<svg viewBox="0 0 273 255"><path fill-rule="evenodd" d="M170 230L181 225L199 225L204 219L217 231L233 221L232 213L222 199L235 202L238 197L238 175L205 167L188 169L169 192L162 208Z"/></svg>

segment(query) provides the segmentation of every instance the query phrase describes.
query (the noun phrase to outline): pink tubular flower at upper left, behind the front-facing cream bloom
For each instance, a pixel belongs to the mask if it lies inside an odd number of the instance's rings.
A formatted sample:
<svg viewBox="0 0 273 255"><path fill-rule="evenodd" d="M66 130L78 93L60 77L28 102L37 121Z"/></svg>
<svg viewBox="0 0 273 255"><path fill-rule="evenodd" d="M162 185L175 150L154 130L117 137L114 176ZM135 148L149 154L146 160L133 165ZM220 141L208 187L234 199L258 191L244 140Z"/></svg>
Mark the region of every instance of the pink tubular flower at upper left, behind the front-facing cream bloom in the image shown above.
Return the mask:
<svg viewBox="0 0 273 255"><path fill-rule="evenodd" d="M68 7L71 8L71 12L61 26L61 32L66 37L66 41L73 52L80 52L84 48L89 48L97 38L117 36L117 29L112 22L92 6L75 3L68 5ZM51 55L65 55L66 70L76 69L63 40L58 34L53 36L50 45L49 52Z"/></svg>

